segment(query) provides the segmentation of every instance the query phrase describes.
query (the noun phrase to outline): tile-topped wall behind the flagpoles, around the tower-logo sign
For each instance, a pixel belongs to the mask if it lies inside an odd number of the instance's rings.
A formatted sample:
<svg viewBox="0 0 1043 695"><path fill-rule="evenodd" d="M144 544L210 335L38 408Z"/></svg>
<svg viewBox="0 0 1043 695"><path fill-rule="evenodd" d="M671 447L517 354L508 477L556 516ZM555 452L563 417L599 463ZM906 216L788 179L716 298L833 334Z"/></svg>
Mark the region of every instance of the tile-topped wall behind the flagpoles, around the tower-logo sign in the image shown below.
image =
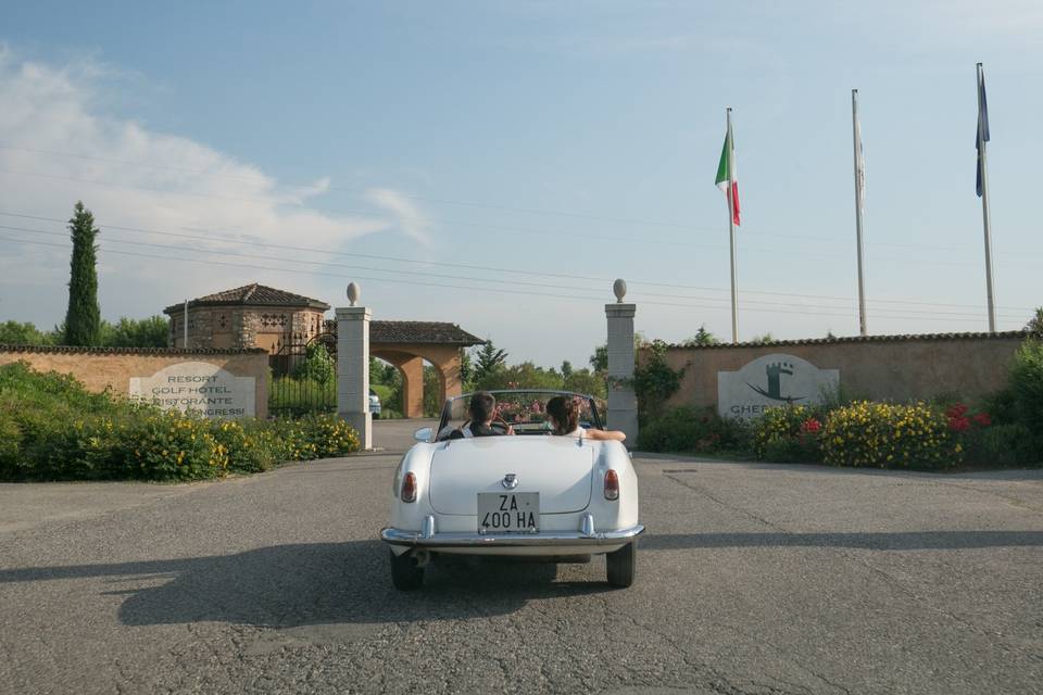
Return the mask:
<svg viewBox="0 0 1043 695"><path fill-rule="evenodd" d="M718 371L738 371L772 353L796 355L819 369L839 369L841 388L854 397L908 401L955 393L976 399L1006 386L1014 353L1027 337L1010 331L671 346L667 363L687 369L668 404L715 406Z"/></svg>

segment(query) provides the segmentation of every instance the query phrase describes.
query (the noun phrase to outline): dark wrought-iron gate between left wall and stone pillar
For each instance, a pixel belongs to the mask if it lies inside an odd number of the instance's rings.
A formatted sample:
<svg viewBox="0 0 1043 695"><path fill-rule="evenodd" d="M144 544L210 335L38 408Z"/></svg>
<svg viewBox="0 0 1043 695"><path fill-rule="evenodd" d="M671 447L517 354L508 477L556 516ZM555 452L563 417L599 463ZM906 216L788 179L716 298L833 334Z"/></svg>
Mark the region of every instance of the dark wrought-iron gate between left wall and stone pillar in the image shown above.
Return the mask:
<svg viewBox="0 0 1043 695"><path fill-rule="evenodd" d="M268 356L268 414L300 417L337 412L337 336L287 333Z"/></svg>

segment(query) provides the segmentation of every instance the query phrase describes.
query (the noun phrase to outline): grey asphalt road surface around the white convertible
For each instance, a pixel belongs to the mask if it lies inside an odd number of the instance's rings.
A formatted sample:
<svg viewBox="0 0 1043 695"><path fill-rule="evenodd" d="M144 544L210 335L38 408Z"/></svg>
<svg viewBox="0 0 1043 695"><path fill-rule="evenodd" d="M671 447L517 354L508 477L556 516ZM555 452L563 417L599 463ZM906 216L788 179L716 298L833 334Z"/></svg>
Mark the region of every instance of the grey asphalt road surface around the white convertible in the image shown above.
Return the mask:
<svg viewBox="0 0 1043 695"><path fill-rule="evenodd" d="M391 589L395 451L191 485L0 485L2 693L1043 693L1043 471L639 457L638 581Z"/></svg>

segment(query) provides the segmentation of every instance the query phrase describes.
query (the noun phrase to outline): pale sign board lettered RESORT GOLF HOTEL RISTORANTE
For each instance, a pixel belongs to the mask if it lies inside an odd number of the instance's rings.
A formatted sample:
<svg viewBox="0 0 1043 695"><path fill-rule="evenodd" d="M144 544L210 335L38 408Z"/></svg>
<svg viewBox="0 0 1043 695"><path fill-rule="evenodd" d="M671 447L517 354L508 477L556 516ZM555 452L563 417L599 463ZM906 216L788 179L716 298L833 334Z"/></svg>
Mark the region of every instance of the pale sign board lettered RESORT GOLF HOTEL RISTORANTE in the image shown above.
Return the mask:
<svg viewBox="0 0 1043 695"><path fill-rule="evenodd" d="M253 417L256 379L237 377L206 362L180 362L151 377L130 378L130 397L164 410L199 410L206 417Z"/></svg>

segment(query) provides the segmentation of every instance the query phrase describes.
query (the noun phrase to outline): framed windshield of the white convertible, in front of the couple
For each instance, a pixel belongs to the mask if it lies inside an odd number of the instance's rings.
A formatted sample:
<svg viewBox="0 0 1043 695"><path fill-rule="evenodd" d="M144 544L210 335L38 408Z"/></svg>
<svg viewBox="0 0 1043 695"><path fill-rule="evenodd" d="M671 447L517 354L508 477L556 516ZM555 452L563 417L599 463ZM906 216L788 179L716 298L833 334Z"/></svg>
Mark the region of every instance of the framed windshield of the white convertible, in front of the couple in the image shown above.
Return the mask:
<svg viewBox="0 0 1043 695"><path fill-rule="evenodd" d="M554 396L570 397L579 407L579 425L585 429L602 429L600 413L595 400L589 395L568 391L488 391L497 400L493 426L502 420L511 426L516 434L548 434L551 425L546 418L546 402ZM444 439L455 429L470 421L468 404L470 393L450 399L442 409L439 422L439 439ZM502 427L502 425L500 426Z"/></svg>

